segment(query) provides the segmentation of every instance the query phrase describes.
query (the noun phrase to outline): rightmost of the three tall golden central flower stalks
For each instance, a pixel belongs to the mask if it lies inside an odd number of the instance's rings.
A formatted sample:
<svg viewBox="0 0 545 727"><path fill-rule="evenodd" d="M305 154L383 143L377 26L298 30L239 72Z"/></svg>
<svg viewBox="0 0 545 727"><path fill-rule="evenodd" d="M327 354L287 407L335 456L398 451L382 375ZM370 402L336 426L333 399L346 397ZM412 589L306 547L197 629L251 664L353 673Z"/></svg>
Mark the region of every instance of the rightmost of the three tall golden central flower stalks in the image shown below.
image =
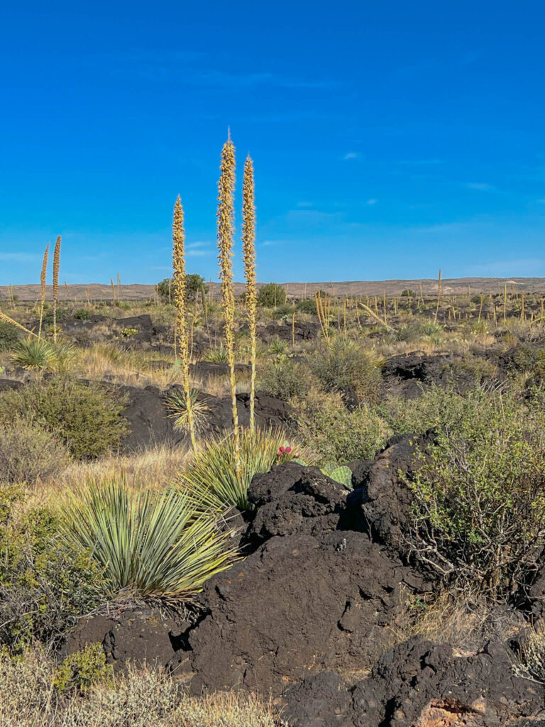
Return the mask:
<svg viewBox="0 0 545 727"><path fill-rule="evenodd" d="M248 306L248 325L251 346L250 429L254 430L257 346L256 207L254 164L250 156L246 158L244 164L244 180L242 185L242 254L244 276L246 278L246 305Z"/></svg>

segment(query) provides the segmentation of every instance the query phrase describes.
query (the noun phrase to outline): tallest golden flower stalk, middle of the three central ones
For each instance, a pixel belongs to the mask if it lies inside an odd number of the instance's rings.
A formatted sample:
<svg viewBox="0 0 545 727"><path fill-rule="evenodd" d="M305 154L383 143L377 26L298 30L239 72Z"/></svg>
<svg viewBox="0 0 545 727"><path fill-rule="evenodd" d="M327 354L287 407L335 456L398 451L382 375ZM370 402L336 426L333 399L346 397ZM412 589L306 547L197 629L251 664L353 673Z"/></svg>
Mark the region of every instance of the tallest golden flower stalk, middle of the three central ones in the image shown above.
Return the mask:
<svg viewBox="0 0 545 727"><path fill-rule="evenodd" d="M233 438L235 448L235 467L241 469L238 411L235 381L235 294L233 292L233 235L235 220L235 147L231 135L222 148L219 165L218 205L217 205L217 244L219 249L219 279L222 281L222 305L225 318L225 348L229 358L229 377L231 401L233 404Z"/></svg>

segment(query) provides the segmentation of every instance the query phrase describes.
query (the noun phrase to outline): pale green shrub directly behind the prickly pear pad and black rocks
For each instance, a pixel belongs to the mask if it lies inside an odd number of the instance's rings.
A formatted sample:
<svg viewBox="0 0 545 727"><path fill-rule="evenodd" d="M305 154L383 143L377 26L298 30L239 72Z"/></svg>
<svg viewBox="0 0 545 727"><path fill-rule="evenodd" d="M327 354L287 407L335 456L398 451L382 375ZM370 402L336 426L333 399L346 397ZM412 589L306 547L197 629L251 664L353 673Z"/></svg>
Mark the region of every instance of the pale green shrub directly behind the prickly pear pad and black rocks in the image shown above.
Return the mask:
<svg viewBox="0 0 545 727"><path fill-rule="evenodd" d="M371 459L391 431L366 404L347 411L341 398L312 393L296 406L297 434L318 465Z"/></svg>

